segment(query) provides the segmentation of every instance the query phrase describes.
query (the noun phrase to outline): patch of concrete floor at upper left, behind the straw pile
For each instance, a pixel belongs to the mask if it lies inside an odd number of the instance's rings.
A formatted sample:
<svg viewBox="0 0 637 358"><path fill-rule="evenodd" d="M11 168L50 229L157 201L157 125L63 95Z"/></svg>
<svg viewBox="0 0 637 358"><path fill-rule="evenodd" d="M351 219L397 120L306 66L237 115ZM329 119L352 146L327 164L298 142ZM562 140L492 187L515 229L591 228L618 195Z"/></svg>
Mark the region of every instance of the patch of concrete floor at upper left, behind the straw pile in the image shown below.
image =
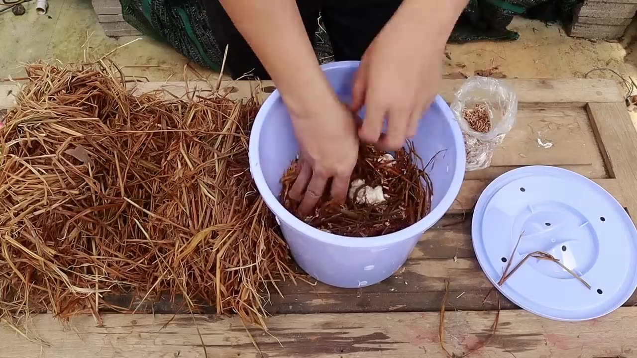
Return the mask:
<svg viewBox="0 0 637 358"><path fill-rule="evenodd" d="M0 14L0 78L20 76L20 64L57 59L62 62L82 61L85 43L87 55L100 57L113 48L136 38L108 38L92 8L90 0L49 0L47 15L38 15L35 1L25 3L27 12L21 17L11 11ZM3 7L0 5L0 7ZM88 39L88 41L87 41ZM173 67L127 68L127 75L146 76L151 81L164 81L171 75L183 79L183 66L189 62L173 48L151 38L142 38L111 59L120 66L159 65Z"/></svg>

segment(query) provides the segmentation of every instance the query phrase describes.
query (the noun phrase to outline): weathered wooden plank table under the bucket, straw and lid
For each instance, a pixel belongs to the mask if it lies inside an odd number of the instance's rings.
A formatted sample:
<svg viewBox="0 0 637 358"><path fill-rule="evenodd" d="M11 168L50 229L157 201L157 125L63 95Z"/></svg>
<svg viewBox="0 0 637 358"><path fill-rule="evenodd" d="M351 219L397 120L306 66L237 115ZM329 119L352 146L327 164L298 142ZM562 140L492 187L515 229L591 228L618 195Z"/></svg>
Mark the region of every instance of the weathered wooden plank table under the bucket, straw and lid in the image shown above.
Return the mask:
<svg viewBox="0 0 637 358"><path fill-rule="evenodd" d="M489 336L497 304L493 298L483 303L492 285L473 252L471 209L484 187L510 169L534 164L571 169L598 182L617 197L633 220L637 218L637 132L617 84L609 80L506 81L519 98L517 124L490 168L467 173L454 206L422 236L403 268L363 289L281 283L283 296L272 294L267 304L274 315L267 321L271 335L250 329L263 357L444 357L439 326L445 280L449 282L445 345L457 356L477 347ZM461 83L444 80L441 95L451 101ZM250 94L255 85L229 84L238 97ZM137 90L162 86L176 96L185 92L183 83L144 83ZM202 82L189 83L190 90L195 86L209 88ZM0 108L13 102L9 91L16 93L17 88L0 85ZM538 138L553 147L540 147ZM140 297L106 299L135 307ZM610 315L565 323L536 317L501 297L497 333L472 356L637 357L636 304L637 294L633 294ZM52 315L37 315L31 330L50 347L42 348L4 328L0 329L0 356L261 356L236 317L171 314L180 306L179 302L145 301L138 310L141 314L105 314L104 327L96 327L88 316L62 324ZM201 313L213 311L201 308Z"/></svg>

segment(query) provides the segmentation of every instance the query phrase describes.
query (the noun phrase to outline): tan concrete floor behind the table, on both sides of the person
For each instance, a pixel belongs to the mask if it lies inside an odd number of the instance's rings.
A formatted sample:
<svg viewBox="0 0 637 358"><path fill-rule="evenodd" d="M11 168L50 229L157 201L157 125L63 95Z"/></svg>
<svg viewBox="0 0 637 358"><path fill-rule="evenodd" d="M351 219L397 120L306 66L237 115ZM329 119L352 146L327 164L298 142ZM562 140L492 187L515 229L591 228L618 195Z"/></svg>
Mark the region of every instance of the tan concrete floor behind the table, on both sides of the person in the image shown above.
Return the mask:
<svg viewBox="0 0 637 358"><path fill-rule="evenodd" d="M0 56L0 78L20 76L19 66L24 62L82 61L85 50L89 56L99 57L135 39L107 38L97 23L90 0L50 0L47 15L38 15L34 3L26 4L27 13L22 17L10 11L0 14L0 48L4 52ZM520 32L518 41L449 45L452 59L445 59L445 71L471 74L475 69L500 65L500 70L509 77L573 78L583 77L594 68L610 68L637 79L637 53L631 51L633 45L626 48L632 42L631 36L623 43L574 39L566 36L558 25L546 26L524 19L514 20L509 28ZM88 43L87 48L84 43ZM184 65L188 62L172 48L150 38L116 51L111 58L120 66L162 66L125 68L127 75L145 76L151 81L183 80ZM195 67L204 76L214 76ZM189 72L188 76L195 75ZM613 78L610 72L590 76Z"/></svg>

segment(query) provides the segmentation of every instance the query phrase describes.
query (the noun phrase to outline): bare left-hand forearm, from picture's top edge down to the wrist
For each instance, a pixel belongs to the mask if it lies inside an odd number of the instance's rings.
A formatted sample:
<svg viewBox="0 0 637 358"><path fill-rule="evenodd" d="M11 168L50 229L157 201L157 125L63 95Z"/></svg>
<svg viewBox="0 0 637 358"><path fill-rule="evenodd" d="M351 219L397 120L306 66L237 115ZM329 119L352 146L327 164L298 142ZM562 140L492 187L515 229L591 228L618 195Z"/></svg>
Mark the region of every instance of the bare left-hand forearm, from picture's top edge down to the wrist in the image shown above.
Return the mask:
<svg viewBox="0 0 637 358"><path fill-rule="evenodd" d="M329 100L331 89L294 0L220 0L292 113Z"/></svg>

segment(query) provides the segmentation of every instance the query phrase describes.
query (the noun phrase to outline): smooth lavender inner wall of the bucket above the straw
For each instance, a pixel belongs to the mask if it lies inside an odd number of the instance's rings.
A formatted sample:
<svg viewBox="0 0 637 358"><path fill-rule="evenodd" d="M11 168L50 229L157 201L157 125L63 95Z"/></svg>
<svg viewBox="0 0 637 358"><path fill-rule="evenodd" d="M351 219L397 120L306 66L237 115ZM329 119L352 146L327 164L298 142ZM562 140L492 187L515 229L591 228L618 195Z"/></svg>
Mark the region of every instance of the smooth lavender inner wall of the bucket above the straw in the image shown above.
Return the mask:
<svg viewBox="0 0 637 358"><path fill-rule="evenodd" d="M327 69L326 75L341 101L350 103L354 69ZM424 165L436 156L427 167L427 173L433 184L432 210L440 204L441 199L450 189L458 165L455 162L457 148L450 123L453 122L453 118L445 118L446 113L451 115L451 112L443 111L441 105L447 104L438 99L424 113L417 134L413 138L415 150L422 158ZM360 114L361 118L364 118L364 109ZM260 136L259 165L269 190L278 198L282 187L280 180L299 152L290 115L278 96L266 113Z"/></svg>

